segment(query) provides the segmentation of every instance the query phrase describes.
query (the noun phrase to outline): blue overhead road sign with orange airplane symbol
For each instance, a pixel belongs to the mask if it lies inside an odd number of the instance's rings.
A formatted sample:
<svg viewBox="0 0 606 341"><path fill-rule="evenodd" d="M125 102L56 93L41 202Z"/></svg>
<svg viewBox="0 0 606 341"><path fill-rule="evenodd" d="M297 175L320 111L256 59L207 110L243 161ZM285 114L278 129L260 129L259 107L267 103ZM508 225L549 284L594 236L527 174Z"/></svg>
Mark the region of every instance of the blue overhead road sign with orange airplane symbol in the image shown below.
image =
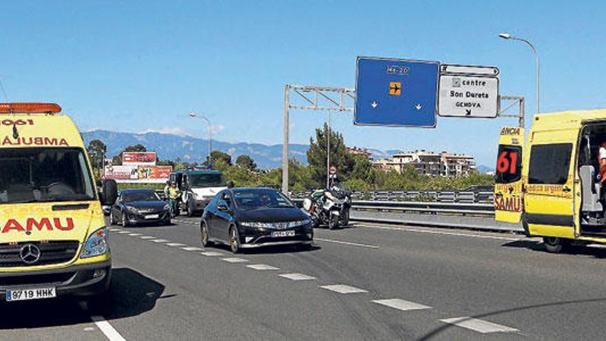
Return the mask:
<svg viewBox="0 0 606 341"><path fill-rule="evenodd" d="M439 62L358 57L356 125L435 127Z"/></svg>

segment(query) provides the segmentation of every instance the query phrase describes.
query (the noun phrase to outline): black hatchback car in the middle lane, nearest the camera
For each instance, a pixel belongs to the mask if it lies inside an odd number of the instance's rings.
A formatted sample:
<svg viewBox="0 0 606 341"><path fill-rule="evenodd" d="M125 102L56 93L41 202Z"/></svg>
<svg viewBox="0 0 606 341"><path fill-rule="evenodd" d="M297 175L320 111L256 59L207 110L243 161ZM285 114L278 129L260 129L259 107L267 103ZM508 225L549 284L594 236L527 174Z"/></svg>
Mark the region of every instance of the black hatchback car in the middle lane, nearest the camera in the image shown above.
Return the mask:
<svg viewBox="0 0 606 341"><path fill-rule="evenodd" d="M202 245L229 244L231 251L270 245L309 249L313 228L309 216L271 188L224 189L216 194L200 221Z"/></svg>

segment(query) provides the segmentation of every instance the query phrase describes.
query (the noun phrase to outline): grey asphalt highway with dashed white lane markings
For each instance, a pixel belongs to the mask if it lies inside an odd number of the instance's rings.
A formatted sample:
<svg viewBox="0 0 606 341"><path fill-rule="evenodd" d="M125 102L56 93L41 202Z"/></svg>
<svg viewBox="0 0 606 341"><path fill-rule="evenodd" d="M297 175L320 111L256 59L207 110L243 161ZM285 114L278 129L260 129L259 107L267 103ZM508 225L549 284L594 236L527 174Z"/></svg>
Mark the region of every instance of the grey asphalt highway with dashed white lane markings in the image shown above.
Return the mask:
<svg viewBox="0 0 606 341"><path fill-rule="evenodd" d="M311 251L202 249L196 219L115 227L114 312L0 304L2 340L601 339L606 249L355 223Z"/></svg>

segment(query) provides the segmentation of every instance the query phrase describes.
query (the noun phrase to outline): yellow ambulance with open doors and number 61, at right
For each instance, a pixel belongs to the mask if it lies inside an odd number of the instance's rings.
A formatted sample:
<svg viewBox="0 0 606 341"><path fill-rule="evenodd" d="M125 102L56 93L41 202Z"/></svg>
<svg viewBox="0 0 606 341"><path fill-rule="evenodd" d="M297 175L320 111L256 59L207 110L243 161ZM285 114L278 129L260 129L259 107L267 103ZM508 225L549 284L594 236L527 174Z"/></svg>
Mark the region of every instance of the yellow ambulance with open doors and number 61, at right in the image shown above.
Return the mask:
<svg viewBox="0 0 606 341"><path fill-rule="evenodd" d="M598 179L606 110L537 114L524 138L523 128L501 129L496 219L521 220L527 236L543 237L551 252L572 241L606 243L606 183Z"/></svg>

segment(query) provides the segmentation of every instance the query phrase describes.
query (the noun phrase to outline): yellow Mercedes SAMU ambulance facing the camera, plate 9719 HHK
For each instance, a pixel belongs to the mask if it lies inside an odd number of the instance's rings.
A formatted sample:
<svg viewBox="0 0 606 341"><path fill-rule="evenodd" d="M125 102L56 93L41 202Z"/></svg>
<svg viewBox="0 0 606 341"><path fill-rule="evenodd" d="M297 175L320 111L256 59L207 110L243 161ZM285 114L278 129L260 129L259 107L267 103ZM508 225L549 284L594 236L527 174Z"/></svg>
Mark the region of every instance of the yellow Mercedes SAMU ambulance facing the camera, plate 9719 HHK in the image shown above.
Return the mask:
<svg viewBox="0 0 606 341"><path fill-rule="evenodd" d="M0 304L76 296L107 308L112 260L82 136L54 103L0 103ZM4 301L4 302L1 302Z"/></svg>

